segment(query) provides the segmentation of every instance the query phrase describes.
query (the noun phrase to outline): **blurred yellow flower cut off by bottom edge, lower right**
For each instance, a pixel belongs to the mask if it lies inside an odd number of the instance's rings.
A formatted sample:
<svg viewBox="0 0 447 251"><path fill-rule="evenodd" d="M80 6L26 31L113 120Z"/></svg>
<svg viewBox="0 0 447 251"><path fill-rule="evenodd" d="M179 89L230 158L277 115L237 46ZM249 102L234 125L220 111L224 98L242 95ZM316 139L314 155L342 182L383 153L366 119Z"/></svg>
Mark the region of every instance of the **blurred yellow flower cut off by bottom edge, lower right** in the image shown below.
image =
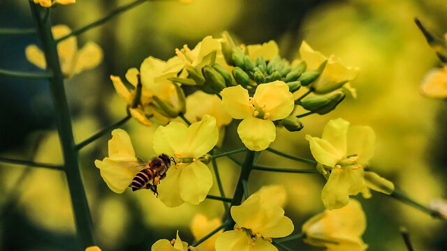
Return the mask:
<svg viewBox="0 0 447 251"><path fill-rule="evenodd" d="M325 210L307 220L302 225L303 241L328 251L362 251L367 248L361 238L365 228L362 206L351 199L344 208Z"/></svg>

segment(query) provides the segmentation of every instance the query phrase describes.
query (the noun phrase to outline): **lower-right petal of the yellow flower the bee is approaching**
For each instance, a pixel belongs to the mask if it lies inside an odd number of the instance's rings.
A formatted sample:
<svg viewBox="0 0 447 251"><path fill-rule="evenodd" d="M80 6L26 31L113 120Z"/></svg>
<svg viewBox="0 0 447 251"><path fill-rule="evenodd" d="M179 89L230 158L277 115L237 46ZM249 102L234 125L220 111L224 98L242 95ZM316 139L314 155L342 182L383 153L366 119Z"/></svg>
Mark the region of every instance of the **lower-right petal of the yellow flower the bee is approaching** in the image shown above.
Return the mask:
<svg viewBox="0 0 447 251"><path fill-rule="evenodd" d="M198 205L207 197L212 186L212 174L207 165L197 160L183 169L179 179L180 197L194 205Z"/></svg>

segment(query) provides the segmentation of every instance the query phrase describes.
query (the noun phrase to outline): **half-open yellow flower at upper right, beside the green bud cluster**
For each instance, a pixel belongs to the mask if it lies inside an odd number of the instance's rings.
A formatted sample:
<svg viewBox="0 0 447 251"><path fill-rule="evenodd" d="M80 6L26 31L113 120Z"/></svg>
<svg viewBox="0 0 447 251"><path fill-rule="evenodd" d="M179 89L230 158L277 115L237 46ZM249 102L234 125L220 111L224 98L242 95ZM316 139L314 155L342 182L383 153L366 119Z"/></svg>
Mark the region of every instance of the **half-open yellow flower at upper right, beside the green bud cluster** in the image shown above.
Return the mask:
<svg viewBox="0 0 447 251"><path fill-rule="evenodd" d="M306 62L308 69L316 69L321 63L328 60L323 73L321 73L316 82L312 84L314 92L318 94L335 91L344 86L347 82L355 79L358 75L358 68L344 66L340 59L335 59L335 56L330 56L329 59L327 59L320 52L312 50L306 41L302 41L300 56L301 59ZM351 86L349 86L349 90L352 90ZM355 96L354 93L353 96Z"/></svg>

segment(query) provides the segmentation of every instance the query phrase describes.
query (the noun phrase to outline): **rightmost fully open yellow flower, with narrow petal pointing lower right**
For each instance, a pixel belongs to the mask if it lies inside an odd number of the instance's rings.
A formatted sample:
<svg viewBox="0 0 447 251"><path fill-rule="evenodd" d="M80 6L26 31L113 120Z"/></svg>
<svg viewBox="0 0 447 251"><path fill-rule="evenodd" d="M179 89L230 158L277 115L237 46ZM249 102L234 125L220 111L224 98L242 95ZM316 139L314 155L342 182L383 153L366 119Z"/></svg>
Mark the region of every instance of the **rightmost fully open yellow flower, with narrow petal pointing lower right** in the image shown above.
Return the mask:
<svg viewBox="0 0 447 251"><path fill-rule="evenodd" d="M318 162L317 169L325 175L328 174L326 169L330 170L328 182L321 191L325 208L342 208L348 204L349 195L359 192L370 197L368 188L386 194L393 192L393 183L373 172L364 171L376 147L376 135L372 128L349 128L348 121L332 119L325 126L321 138L310 135L306 138Z"/></svg>

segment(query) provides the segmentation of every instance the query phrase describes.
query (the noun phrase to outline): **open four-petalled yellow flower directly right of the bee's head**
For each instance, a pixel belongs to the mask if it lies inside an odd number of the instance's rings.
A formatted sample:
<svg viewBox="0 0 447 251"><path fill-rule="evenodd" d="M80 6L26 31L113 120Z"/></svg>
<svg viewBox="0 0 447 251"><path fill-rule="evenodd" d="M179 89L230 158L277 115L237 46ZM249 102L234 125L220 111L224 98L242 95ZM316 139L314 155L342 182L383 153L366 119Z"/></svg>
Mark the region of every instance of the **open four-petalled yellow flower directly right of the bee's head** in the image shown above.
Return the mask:
<svg viewBox="0 0 447 251"><path fill-rule="evenodd" d="M159 197L166 206L179 206L184 201L199 204L205 199L212 186L212 175L199 158L216 145L218 138L216 119L208 115L189 127L170 122L157 128L154 151L175 156L177 162L159 185Z"/></svg>

